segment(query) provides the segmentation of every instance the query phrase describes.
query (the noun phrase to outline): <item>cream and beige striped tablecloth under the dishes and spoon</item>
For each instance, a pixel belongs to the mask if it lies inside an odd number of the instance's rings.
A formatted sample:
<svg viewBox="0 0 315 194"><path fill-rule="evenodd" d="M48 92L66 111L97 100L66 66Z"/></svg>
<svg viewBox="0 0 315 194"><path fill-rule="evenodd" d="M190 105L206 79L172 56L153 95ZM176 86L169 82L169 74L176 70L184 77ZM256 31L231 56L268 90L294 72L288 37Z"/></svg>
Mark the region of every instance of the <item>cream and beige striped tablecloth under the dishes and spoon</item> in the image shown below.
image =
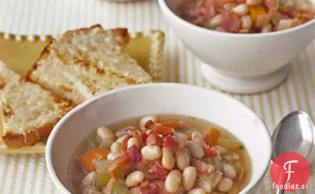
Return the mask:
<svg viewBox="0 0 315 194"><path fill-rule="evenodd" d="M0 0L0 31L4 33L55 35L96 23L105 28L127 27L130 32L163 30L166 35L163 81L212 88L200 74L200 61L164 21L156 0L127 4L105 0ZM315 118L314 43L291 67L290 76L275 90L260 95L232 95L255 110L270 132L292 110L304 110ZM310 189L297 193L315 193L314 165L311 169ZM269 171L258 193L275 194ZM44 155L0 155L0 194L57 194Z"/></svg>

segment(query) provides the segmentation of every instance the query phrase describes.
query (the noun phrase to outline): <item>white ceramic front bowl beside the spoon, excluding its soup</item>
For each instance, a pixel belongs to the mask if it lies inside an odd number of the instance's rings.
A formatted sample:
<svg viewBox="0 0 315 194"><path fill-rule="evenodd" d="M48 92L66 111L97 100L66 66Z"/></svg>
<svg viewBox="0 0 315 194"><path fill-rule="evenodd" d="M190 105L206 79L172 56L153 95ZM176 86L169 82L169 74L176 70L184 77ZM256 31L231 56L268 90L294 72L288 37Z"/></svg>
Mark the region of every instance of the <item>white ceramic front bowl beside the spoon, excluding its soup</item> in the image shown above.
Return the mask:
<svg viewBox="0 0 315 194"><path fill-rule="evenodd" d="M220 92L178 83L153 83L109 91L77 106L54 127L46 149L49 174L61 194L67 187L69 161L96 128L147 114L179 114L212 121L236 135L247 148L253 172L240 194L254 194L269 165L270 135L262 120L241 102Z"/></svg>

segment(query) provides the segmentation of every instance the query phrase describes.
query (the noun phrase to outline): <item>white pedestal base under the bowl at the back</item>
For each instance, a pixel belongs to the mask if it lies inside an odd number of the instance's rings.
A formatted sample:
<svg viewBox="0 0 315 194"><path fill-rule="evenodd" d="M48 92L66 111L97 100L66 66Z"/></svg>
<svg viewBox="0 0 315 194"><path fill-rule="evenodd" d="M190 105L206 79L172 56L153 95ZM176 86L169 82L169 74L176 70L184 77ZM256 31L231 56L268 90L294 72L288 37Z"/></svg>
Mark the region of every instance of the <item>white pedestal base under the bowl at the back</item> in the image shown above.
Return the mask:
<svg viewBox="0 0 315 194"><path fill-rule="evenodd" d="M219 90L236 94L261 93L280 85L288 76L290 66L270 74L257 77L241 77L226 74L223 71L211 68L209 65L201 64L201 73L205 80Z"/></svg>

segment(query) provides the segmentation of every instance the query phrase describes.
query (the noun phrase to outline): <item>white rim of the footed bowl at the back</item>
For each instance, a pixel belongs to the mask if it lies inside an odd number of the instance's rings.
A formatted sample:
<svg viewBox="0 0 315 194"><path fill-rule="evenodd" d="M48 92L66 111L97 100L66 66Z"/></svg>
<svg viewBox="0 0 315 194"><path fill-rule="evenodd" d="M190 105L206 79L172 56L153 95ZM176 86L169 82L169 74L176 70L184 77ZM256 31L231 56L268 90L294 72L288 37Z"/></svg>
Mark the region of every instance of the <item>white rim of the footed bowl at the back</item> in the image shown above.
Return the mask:
<svg viewBox="0 0 315 194"><path fill-rule="evenodd" d="M195 31L201 32L201 33L206 33L206 34L212 34L212 35L219 35L219 36L227 36L227 37L236 37L236 38L252 38L252 37L272 37L272 36L280 36L284 34L289 34L295 31L299 31L303 28L309 27L313 24L315 24L315 18L312 19L311 21L301 24L299 26L285 29L285 30L280 30L280 31L275 31L275 32L269 32L269 33L251 33L251 34L243 34L243 33L226 33L226 32L220 32L220 31L215 31L215 30L210 30L207 28L199 27L195 24L192 24L178 15L176 15L170 7L166 4L166 0L158 0L158 4L160 5L160 8L162 11L164 11L165 14L168 16L174 18L176 22L181 23L187 28L191 28ZM311 0L312 4L314 4L313 0Z"/></svg>

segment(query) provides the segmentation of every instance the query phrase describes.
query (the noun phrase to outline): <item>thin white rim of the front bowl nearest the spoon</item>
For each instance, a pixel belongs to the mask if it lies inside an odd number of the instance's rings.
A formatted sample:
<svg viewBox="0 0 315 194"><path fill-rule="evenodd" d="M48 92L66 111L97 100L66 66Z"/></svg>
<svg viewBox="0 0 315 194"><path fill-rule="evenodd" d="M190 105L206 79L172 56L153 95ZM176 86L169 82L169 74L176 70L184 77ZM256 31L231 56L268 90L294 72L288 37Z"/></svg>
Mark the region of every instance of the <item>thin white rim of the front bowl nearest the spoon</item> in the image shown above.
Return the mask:
<svg viewBox="0 0 315 194"><path fill-rule="evenodd" d="M54 168L52 165L52 144L54 141L54 138L56 136L56 134L58 133L61 125L72 115L74 115L76 112L80 111L81 109L83 109L84 107L87 107L88 105L90 105L91 103L98 101L102 98L105 98L106 96L110 96L114 93L119 93L121 91L125 91L125 90L132 90L132 89L136 89L136 88L145 88L145 87L155 87L155 86L169 86L169 87L190 87L190 88L196 88L199 90L207 90L207 92L212 92L214 95L219 95L222 96L224 98L229 98L230 100L232 100L234 103L238 103L240 106L243 106L244 108L248 109L250 112L252 112L255 116L257 116L257 118L261 121L261 123L264 126L264 130L268 136L268 138L266 139L266 141L268 141L269 144L269 156L268 156L268 160L266 159L266 162L264 164L264 170L262 171L261 174L259 174L259 176L256 179L252 179L250 181L250 183L248 184L248 186L246 188L244 188L239 194L247 194L248 192L252 191L255 186L260 182L260 180L262 180L264 178L264 175L268 169L268 166L270 164L270 159L271 159L271 154L272 154L272 146L271 146L271 134L267 128L267 126L265 125L265 123L262 121L261 117L258 116L250 107L248 107L246 104L242 103L241 101L228 96L227 94L224 94L220 91L217 90L213 90L213 89L209 89L206 87L201 87L201 86L197 86L197 85L190 85L190 84L185 84L185 83L145 83L145 84L139 84L139 85L130 85L130 86L126 86L126 87L121 87L121 88L117 88L117 89L113 89L111 91L105 92L103 94L100 94L98 96L92 97L88 100L86 100L85 102L79 104L78 106L76 106L74 109L72 109L71 111L69 111L65 116L63 116L58 122L57 124L53 127L52 132L48 138L47 141L47 145L46 145L46 154L45 154L45 160L46 160L46 165L47 165L47 169L48 169L48 173L52 179L53 184L56 186L57 190L62 191L63 194L71 194L69 192L69 190L60 182Z"/></svg>

